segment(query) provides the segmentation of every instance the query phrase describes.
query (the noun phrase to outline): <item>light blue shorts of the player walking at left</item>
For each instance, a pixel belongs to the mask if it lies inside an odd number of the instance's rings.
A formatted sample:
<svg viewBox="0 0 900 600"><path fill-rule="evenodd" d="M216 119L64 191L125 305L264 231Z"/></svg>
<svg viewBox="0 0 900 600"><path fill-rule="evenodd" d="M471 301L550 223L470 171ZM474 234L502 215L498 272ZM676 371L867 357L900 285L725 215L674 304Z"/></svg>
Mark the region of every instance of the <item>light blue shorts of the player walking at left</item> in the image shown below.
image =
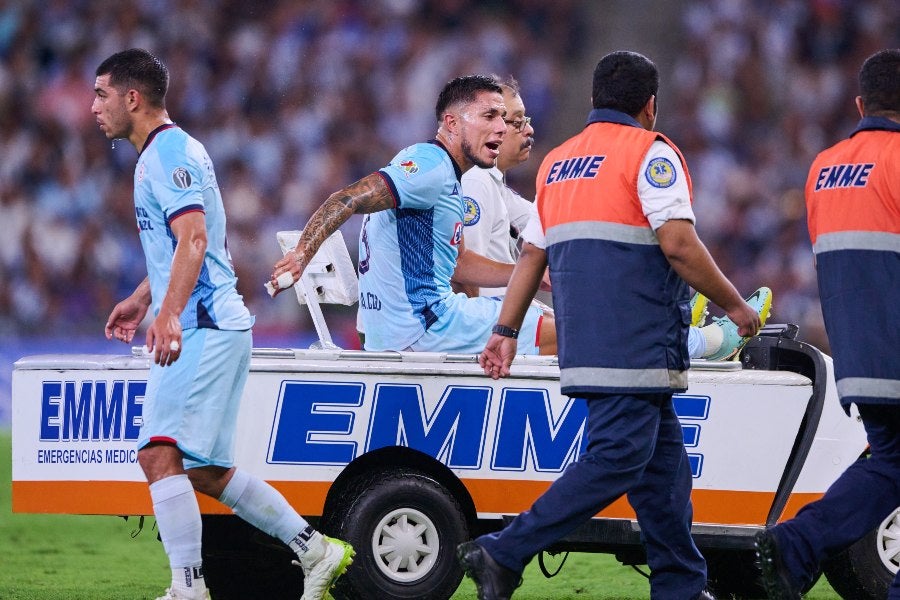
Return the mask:
<svg viewBox="0 0 900 600"><path fill-rule="evenodd" d="M250 330L185 330L178 360L150 367L138 449L169 442L184 453L185 469L231 467L252 348Z"/></svg>

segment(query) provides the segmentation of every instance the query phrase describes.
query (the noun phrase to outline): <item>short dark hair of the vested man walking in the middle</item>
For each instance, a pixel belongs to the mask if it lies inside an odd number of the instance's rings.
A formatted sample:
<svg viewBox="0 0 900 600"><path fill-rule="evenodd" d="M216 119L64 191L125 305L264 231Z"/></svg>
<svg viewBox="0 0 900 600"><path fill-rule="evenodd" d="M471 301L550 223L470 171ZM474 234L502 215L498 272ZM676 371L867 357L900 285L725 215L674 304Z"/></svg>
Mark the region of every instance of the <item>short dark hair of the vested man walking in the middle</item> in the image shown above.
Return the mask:
<svg viewBox="0 0 900 600"><path fill-rule="evenodd" d="M612 52L594 69L594 108L611 108L633 117L658 91L659 71L643 54Z"/></svg>

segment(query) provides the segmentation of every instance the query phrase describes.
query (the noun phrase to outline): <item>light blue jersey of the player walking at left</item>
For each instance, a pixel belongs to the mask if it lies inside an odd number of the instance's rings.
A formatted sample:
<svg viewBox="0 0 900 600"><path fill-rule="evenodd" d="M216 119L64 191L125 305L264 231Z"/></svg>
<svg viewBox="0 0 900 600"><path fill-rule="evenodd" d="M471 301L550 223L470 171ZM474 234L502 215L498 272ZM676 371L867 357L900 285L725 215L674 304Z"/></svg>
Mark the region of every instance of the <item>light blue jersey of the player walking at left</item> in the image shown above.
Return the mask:
<svg viewBox="0 0 900 600"><path fill-rule="evenodd" d="M187 212L201 211L206 220L206 256L181 313L181 326L250 329L253 317L235 287L222 196L203 144L173 124L151 132L134 170L134 210L147 260L153 314L159 313L169 287L177 244L169 223Z"/></svg>

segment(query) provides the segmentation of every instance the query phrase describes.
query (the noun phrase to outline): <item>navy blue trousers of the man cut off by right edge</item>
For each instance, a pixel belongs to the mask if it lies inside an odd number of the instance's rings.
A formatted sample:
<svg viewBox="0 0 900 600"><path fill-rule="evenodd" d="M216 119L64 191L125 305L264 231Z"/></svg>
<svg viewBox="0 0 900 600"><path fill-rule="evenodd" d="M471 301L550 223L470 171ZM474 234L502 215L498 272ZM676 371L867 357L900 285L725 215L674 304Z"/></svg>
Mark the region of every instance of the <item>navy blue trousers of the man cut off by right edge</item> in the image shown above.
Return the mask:
<svg viewBox="0 0 900 600"><path fill-rule="evenodd" d="M900 506L900 406L860 404L871 455L847 468L825 495L773 528L794 580L806 585L819 564L877 527ZM900 600L900 574L889 600Z"/></svg>

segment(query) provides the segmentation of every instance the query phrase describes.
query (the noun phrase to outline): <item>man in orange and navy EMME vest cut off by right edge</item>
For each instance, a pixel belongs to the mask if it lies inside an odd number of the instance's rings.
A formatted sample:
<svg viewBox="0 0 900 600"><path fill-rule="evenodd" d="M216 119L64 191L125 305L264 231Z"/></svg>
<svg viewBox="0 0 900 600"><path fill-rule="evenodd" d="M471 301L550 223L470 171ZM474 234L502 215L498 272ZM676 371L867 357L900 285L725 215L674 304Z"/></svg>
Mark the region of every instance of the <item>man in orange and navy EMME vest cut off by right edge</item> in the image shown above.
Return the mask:
<svg viewBox="0 0 900 600"><path fill-rule="evenodd" d="M862 118L813 161L806 206L835 387L848 416L856 405L869 448L822 498L757 534L770 598L799 598L827 557L900 504L900 49L867 58L859 89ZM888 598L900 600L900 574Z"/></svg>

